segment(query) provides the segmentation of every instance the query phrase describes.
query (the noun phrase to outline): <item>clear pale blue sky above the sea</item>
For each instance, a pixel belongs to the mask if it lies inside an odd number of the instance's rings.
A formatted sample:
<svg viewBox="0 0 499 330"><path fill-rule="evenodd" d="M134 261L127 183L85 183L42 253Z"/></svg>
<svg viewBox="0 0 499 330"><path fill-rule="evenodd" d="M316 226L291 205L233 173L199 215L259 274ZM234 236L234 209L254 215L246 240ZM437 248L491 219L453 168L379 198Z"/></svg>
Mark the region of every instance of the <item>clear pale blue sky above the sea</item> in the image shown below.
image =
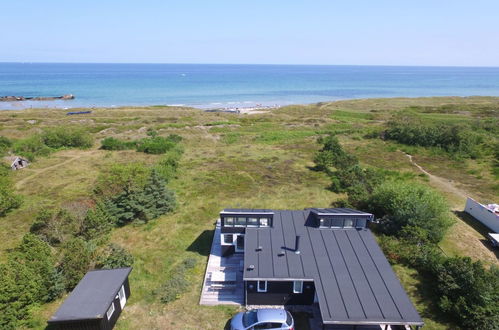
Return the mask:
<svg viewBox="0 0 499 330"><path fill-rule="evenodd" d="M499 66L499 1L2 0L0 61Z"/></svg>

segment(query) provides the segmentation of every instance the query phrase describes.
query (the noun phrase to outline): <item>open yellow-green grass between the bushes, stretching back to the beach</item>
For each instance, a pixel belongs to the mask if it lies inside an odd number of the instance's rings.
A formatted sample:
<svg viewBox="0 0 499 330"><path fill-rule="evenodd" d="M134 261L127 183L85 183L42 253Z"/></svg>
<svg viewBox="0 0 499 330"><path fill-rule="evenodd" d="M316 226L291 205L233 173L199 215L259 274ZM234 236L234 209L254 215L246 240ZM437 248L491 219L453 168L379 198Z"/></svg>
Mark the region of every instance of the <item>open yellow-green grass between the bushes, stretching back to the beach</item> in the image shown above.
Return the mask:
<svg viewBox="0 0 499 330"><path fill-rule="evenodd" d="M112 233L111 240L126 247L136 260L130 278L132 296L117 329L221 329L236 309L198 305L218 212L225 207L300 209L331 205L341 196L327 189L330 181L324 173L311 169L318 149L316 139L321 134L338 133L345 148L364 164L401 171L432 185L446 196L452 210L464 207L462 194L457 192L484 201L497 196L492 159L453 159L435 150L364 137L367 131L384 125L396 110L443 105L458 110L423 115L429 120L449 122L497 116L499 98L341 101L289 106L253 115L173 107L96 109L80 117L66 116L62 110L0 112L0 134L9 138L28 136L43 127L73 125L85 127L97 140L90 150L59 151L14 173L16 190L24 196L24 204L0 218L0 256L4 258L5 252L19 243L41 206L88 198L98 173L113 163L152 164L157 160L157 156L135 151L99 150L98 140L109 136L145 137L150 127L160 135L179 134L184 138L185 153L177 178L170 183L177 193L178 210L146 225L128 225ZM484 109L490 108L496 109L495 113L485 114ZM36 122L30 124L28 120ZM422 174L404 152L455 189ZM486 231L460 213L456 212L455 219L441 244L443 251L499 264L497 255L484 244ZM187 256L199 261L190 290L173 303L160 303L154 290ZM395 270L425 318L426 328L452 328L432 312L424 281L404 267L396 266ZM32 326L43 328L61 302L37 307Z"/></svg>

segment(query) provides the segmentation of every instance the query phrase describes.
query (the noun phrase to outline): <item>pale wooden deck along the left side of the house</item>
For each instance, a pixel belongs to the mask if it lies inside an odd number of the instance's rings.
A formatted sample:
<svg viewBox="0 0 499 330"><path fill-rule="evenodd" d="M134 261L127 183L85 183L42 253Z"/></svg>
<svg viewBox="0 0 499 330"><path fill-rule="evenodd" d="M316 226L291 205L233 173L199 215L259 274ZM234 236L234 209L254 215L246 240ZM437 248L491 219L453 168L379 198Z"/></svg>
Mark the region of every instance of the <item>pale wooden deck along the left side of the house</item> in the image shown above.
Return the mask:
<svg viewBox="0 0 499 330"><path fill-rule="evenodd" d="M243 262L242 254L234 254L230 257L222 257L220 247L220 224L217 223L213 242L211 244L210 257L204 276L203 290L201 292L200 305L243 305ZM233 284L214 283L211 280L213 272L232 273L236 275Z"/></svg>

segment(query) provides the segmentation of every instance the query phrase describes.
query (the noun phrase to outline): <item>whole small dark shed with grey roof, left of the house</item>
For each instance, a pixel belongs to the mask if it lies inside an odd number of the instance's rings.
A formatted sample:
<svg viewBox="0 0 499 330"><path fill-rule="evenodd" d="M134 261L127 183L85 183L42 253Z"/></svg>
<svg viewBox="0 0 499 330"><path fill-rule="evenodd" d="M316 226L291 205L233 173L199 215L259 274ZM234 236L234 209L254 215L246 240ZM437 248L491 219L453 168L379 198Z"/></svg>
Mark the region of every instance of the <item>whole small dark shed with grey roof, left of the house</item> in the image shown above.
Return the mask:
<svg viewBox="0 0 499 330"><path fill-rule="evenodd" d="M49 329L110 330L130 297L132 268L93 270L47 321Z"/></svg>

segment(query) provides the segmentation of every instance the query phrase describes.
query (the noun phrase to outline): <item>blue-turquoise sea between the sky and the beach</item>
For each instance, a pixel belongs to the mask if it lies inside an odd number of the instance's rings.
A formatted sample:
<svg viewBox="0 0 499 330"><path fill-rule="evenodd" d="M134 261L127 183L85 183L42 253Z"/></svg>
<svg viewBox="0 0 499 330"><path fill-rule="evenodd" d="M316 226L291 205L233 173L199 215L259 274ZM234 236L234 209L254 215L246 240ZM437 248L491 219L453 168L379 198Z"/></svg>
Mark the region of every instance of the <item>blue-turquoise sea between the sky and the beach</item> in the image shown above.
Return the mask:
<svg viewBox="0 0 499 330"><path fill-rule="evenodd" d="M499 96L499 68L0 63L0 96L64 94L76 98L0 102L0 109L235 108L372 97Z"/></svg>

